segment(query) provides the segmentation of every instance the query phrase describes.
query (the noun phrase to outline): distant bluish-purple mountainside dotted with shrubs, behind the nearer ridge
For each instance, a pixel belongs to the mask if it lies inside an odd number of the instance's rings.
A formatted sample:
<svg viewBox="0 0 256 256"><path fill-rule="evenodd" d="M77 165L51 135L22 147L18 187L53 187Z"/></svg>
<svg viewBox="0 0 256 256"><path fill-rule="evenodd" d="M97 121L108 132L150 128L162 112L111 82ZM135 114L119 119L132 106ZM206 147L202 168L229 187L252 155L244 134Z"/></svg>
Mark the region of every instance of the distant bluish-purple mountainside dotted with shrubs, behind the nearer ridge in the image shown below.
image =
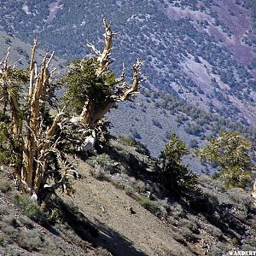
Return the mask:
<svg viewBox="0 0 256 256"><path fill-rule="evenodd" d="M145 61L148 87L255 126L255 3L240 0L3 1L0 28L64 58L102 44L102 16L119 32L115 67ZM128 66L127 65L127 66Z"/></svg>

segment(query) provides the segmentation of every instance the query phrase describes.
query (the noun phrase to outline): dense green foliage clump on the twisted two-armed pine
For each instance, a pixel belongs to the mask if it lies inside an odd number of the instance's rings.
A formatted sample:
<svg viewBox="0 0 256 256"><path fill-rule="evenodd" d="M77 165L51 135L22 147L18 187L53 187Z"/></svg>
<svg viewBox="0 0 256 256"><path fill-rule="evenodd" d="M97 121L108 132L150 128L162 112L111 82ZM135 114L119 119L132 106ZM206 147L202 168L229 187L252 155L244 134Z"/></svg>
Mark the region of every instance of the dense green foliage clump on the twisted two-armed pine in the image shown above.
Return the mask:
<svg viewBox="0 0 256 256"><path fill-rule="evenodd" d="M81 113L84 102L94 102L95 108L101 109L104 100L113 94L115 75L113 72L97 74L99 63L96 58L84 58L71 63L68 73L60 84L67 87L62 100L72 113Z"/></svg>

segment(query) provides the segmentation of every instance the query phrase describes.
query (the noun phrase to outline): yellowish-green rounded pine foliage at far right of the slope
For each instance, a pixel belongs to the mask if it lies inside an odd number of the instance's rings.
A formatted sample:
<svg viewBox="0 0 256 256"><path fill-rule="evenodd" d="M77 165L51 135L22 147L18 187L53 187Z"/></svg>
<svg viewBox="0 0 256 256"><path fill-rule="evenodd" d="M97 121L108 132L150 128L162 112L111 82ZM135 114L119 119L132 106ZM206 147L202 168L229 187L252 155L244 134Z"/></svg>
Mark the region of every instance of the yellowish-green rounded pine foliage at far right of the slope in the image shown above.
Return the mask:
<svg viewBox="0 0 256 256"><path fill-rule="evenodd" d="M195 153L201 160L218 165L218 173L227 188L245 189L252 183L253 163L250 150L253 143L234 131L221 131L218 137L208 140L205 147Z"/></svg>

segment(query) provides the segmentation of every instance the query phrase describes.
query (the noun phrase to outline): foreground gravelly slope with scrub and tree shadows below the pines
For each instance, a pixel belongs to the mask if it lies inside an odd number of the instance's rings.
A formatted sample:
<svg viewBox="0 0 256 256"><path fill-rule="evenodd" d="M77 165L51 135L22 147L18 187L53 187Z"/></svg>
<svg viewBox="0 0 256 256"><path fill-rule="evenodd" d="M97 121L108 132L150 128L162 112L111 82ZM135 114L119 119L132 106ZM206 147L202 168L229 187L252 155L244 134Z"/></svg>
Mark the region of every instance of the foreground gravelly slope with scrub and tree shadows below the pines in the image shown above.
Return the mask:
<svg viewBox="0 0 256 256"><path fill-rule="evenodd" d="M107 148L105 148L107 149ZM38 207L0 171L1 255L229 255L254 250L252 197L202 176L194 201L166 196L154 160L128 137L78 160L73 198L58 194Z"/></svg>

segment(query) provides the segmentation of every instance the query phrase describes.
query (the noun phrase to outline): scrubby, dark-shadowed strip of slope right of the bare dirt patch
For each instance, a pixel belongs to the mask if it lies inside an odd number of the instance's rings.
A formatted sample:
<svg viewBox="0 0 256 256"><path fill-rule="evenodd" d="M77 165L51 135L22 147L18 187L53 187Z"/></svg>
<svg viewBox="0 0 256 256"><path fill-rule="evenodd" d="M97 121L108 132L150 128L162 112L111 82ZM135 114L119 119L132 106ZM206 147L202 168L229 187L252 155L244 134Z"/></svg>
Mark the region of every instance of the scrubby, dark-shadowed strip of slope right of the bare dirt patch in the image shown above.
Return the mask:
<svg viewBox="0 0 256 256"><path fill-rule="evenodd" d="M207 247L215 253L212 255L222 255L231 247L255 246L256 210L247 192L225 189L223 183L206 176L198 177L200 193L187 191L189 196L183 198L181 190L166 191L160 183L155 160L131 139L114 140L102 151L88 161L95 170L100 166L102 176L95 173L95 177L126 189L125 193L137 201L143 198L142 205L147 209L154 205L154 211L150 212L168 224L173 238L191 252L197 252L199 247L206 253ZM143 184L139 188L138 182Z"/></svg>

